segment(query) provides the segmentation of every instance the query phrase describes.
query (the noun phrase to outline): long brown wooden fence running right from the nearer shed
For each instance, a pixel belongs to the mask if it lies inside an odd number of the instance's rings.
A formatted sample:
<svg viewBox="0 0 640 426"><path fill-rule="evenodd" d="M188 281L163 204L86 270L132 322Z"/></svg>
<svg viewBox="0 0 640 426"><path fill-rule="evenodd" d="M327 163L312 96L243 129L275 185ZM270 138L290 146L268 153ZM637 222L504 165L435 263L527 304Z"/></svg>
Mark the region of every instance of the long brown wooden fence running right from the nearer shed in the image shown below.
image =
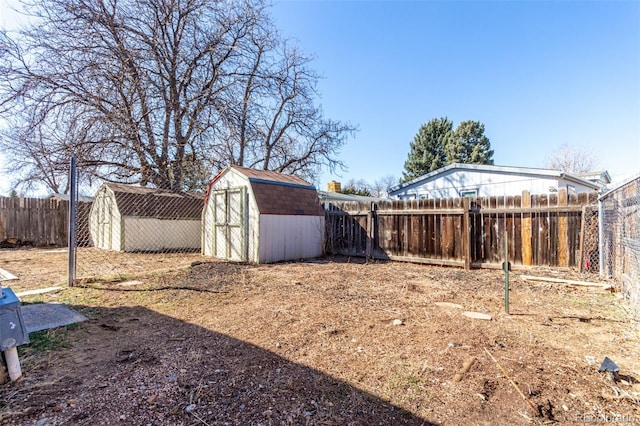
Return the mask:
<svg viewBox="0 0 640 426"><path fill-rule="evenodd" d="M326 251L438 265L578 266L597 193L325 203ZM597 229L590 232L596 232Z"/></svg>

